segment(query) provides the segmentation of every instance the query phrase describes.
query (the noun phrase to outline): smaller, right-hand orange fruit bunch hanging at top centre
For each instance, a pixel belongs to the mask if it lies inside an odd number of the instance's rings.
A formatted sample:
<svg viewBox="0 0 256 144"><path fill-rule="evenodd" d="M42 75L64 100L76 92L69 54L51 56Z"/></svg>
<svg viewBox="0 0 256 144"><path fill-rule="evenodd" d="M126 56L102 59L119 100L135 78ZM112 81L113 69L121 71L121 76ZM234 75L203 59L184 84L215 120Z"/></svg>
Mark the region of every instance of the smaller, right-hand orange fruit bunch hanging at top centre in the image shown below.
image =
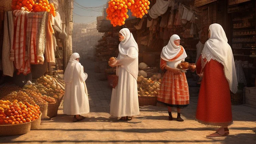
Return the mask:
<svg viewBox="0 0 256 144"><path fill-rule="evenodd" d="M134 0L134 4L131 5L130 10L132 16L142 18L148 13L150 2L148 0Z"/></svg>

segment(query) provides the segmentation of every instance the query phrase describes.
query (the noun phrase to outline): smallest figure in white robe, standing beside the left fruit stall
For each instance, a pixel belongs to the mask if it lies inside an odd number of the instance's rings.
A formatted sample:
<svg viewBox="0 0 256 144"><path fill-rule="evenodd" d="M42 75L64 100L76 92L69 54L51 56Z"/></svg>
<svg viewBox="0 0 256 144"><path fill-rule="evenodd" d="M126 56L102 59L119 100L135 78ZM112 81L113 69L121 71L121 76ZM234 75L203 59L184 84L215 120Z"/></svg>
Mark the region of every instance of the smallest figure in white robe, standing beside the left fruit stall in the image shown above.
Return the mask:
<svg viewBox="0 0 256 144"><path fill-rule="evenodd" d="M74 115L74 122L83 120L85 117L80 114L87 114L90 111L85 85L88 75L84 73L83 66L79 63L79 58L78 53L73 53L64 73L65 94L63 113Z"/></svg>

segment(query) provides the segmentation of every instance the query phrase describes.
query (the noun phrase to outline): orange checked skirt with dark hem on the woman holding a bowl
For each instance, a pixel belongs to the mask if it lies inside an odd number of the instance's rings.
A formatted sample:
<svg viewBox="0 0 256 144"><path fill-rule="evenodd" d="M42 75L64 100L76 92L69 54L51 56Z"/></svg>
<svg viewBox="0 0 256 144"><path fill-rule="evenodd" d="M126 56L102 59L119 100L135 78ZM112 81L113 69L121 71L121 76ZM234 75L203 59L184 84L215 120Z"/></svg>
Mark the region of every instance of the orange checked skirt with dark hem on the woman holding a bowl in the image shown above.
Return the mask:
<svg viewBox="0 0 256 144"><path fill-rule="evenodd" d="M189 105L188 82L184 72L174 74L173 72L166 71L157 101L177 108L184 108Z"/></svg>

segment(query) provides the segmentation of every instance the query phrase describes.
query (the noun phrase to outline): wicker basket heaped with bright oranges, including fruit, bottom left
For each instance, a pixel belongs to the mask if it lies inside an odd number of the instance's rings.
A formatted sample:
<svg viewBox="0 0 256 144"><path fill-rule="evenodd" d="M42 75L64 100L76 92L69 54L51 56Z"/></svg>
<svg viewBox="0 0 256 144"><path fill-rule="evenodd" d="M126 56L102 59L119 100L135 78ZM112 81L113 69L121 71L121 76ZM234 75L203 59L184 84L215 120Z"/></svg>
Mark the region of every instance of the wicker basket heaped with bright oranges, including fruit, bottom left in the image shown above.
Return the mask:
<svg viewBox="0 0 256 144"><path fill-rule="evenodd" d="M0 100L0 136L26 134L31 124L40 117L37 104L22 103L18 100Z"/></svg>

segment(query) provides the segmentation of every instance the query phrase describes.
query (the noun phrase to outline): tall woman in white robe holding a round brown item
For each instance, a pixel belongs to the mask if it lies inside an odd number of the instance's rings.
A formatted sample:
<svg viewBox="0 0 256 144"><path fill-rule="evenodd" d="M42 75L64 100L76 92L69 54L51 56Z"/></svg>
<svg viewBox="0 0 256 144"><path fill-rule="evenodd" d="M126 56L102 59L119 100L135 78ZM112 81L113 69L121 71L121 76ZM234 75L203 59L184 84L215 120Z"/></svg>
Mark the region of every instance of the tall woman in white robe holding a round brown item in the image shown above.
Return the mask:
<svg viewBox="0 0 256 144"><path fill-rule="evenodd" d="M122 120L131 120L132 116L139 114L138 45L127 28L120 30L119 37L117 60L110 63L112 67L117 66L116 75L119 77L118 85L112 90L110 114Z"/></svg>

